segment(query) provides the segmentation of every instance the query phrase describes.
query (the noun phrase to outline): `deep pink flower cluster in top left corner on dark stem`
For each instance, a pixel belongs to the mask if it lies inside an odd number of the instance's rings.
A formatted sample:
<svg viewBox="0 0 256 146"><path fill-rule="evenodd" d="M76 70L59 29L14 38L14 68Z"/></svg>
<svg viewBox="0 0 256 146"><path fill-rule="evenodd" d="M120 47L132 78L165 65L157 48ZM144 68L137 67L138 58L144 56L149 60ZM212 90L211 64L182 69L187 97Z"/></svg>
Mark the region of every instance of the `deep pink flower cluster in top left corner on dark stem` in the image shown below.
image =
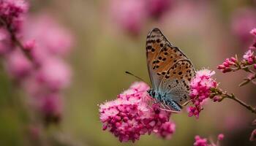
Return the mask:
<svg viewBox="0 0 256 146"><path fill-rule="evenodd" d="M0 26L6 26L13 32L20 29L23 14L28 10L24 0L0 0Z"/></svg>

